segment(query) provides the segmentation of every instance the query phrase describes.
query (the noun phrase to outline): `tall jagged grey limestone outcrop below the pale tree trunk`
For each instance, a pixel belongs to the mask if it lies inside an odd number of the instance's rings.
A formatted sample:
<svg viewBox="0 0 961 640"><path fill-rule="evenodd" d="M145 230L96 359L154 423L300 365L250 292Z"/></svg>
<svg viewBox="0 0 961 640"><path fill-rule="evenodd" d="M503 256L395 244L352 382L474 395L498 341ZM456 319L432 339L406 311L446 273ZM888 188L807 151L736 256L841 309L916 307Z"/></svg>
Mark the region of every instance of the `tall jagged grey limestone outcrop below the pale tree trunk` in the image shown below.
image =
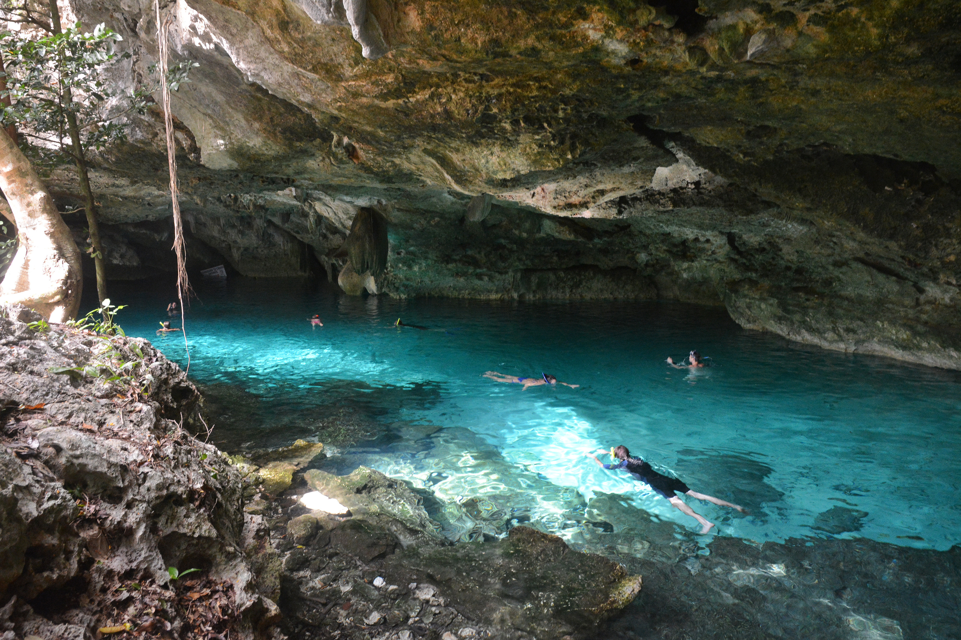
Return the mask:
<svg viewBox="0 0 961 640"><path fill-rule="evenodd" d="M102 627L112 624L117 587L163 588L168 567L230 581L224 602L242 614L237 637L274 624L277 606L257 591L241 548L249 540L239 473L180 427L201 405L184 371L145 340L105 342L65 325L35 331L22 307L4 311L0 599L20 599L9 612L13 630L86 637L84 627L51 622L21 601L62 601L64 619ZM114 357L132 365L131 381L91 373L91 363ZM185 624L178 616L171 610L175 629Z"/></svg>

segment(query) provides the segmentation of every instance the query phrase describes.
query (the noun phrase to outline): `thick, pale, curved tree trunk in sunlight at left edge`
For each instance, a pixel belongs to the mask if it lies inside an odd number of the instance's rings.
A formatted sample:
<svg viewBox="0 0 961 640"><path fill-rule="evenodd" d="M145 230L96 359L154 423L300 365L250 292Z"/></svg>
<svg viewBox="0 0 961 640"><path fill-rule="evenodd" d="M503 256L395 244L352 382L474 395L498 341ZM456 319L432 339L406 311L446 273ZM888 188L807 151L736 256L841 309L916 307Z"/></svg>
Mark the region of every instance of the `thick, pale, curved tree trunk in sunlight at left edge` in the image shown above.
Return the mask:
<svg viewBox="0 0 961 640"><path fill-rule="evenodd" d="M0 130L0 189L17 226L17 248L0 283L0 303L32 307L51 322L77 315L83 286L80 249L37 172Z"/></svg>

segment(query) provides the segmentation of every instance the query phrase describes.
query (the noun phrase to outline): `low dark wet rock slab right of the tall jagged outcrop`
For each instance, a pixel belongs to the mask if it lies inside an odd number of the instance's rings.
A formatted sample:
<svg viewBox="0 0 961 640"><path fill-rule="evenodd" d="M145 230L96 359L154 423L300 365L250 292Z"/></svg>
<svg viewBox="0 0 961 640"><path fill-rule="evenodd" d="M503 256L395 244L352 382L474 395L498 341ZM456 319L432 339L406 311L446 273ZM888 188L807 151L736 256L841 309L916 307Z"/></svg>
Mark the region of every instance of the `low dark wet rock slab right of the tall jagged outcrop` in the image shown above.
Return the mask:
<svg viewBox="0 0 961 640"><path fill-rule="evenodd" d="M451 546L417 494L373 469L311 469L305 485L264 514L291 637L584 637L641 590L616 562L527 527ZM284 507L309 490L350 513Z"/></svg>

